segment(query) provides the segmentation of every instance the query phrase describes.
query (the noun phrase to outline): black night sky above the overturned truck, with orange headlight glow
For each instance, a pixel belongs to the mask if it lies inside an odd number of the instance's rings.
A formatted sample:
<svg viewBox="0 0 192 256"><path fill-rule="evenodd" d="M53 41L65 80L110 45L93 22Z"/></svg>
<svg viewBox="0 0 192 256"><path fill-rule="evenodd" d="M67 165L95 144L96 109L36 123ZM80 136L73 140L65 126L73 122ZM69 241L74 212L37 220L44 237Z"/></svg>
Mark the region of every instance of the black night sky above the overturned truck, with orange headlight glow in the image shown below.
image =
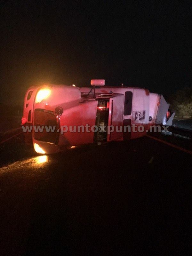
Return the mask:
<svg viewBox="0 0 192 256"><path fill-rule="evenodd" d="M188 1L1 1L1 103L30 85L191 86Z"/></svg>

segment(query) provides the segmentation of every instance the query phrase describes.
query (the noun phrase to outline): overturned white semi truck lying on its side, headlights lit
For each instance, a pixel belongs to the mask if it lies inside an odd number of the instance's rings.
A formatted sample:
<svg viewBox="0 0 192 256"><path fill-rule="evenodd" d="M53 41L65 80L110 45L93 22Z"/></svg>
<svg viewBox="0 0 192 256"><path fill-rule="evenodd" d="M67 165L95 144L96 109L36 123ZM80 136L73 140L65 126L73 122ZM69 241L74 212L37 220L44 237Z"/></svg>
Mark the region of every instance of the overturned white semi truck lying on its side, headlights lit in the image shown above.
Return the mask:
<svg viewBox="0 0 192 256"><path fill-rule="evenodd" d="M153 125L172 125L163 95L137 87L32 86L24 99L22 128L37 153L144 136Z"/></svg>

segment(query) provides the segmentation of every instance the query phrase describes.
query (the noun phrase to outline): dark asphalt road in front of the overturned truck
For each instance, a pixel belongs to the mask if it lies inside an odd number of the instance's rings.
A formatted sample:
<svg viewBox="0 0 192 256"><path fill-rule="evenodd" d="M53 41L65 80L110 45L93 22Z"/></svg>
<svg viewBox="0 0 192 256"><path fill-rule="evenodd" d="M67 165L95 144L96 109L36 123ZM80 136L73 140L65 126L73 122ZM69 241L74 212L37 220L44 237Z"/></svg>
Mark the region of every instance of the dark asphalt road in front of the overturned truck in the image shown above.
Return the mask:
<svg viewBox="0 0 192 256"><path fill-rule="evenodd" d="M192 155L143 137L37 156L22 134L0 151L0 255L190 254Z"/></svg>

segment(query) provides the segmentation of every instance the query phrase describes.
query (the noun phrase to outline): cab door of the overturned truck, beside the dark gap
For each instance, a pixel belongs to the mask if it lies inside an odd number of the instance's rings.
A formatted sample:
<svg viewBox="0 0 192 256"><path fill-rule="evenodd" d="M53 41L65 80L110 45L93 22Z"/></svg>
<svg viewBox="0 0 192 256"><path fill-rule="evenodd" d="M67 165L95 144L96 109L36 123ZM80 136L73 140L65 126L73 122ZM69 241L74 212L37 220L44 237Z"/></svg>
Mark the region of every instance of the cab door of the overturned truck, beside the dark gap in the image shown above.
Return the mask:
<svg viewBox="0 0 192 256"><path fill-rule="evenodd" d="M111 131L110 134L108 134L107 141L119 140L123 136L123 132L118 132L122 125L123 105L123 94L114 94L114 96L109 99L108 125L112 125L114 127L114 131Z"/></svg>

